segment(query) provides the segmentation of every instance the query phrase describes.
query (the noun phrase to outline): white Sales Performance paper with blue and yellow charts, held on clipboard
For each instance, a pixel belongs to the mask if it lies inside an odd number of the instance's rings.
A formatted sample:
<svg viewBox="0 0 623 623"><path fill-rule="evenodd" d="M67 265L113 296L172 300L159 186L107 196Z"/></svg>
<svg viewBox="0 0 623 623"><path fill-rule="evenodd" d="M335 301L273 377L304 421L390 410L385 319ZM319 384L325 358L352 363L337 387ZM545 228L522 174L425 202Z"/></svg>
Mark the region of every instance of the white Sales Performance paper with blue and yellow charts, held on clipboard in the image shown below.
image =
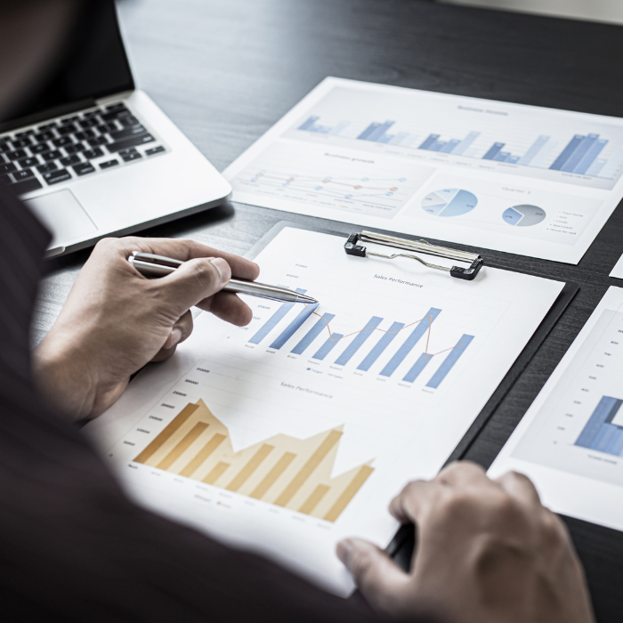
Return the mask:
<svg viewBox="0 0 623 623"><path fill-rule="evenodd" d="M254 297L247 328L202 313L85 430L140 503L347 595L336 542L389 543L390 500L438 472L562 283L487 267L452 279L289 228L256 261L263 281L317 297L324 320ZM199 400L213 416L201 405L166 440Z"/></svg>

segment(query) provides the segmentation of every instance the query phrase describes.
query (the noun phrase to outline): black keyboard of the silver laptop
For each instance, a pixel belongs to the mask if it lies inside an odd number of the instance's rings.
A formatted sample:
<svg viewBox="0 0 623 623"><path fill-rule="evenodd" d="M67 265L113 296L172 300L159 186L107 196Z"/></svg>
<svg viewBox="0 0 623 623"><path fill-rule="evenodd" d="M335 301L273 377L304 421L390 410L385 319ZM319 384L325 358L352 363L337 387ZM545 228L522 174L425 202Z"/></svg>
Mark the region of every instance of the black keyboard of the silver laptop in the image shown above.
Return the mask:
<svg viewBox="0 0 623 623"><path fill-rule="evenodd" d="M166 148L125 104L0 134L0 183L18 195L144 160Z"/></svg>

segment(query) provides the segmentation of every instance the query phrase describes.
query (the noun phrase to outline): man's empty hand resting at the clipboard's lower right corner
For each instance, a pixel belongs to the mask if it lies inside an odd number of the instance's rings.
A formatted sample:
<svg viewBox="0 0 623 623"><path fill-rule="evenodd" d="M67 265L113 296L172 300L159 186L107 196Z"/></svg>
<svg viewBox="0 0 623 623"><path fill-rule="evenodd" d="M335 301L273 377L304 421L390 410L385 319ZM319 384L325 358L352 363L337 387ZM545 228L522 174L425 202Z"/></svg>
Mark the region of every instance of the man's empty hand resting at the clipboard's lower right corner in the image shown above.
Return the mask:
<svg viewBox="0 0 623 623"><path fill-rule="evenodd" d="M455 463L409 483L390 512L417 525L410 573L366 541L337 546L377 610L409 615L424 605L457 623L594 620L569 534L525 476L491 481L478 465Z"/></svg>

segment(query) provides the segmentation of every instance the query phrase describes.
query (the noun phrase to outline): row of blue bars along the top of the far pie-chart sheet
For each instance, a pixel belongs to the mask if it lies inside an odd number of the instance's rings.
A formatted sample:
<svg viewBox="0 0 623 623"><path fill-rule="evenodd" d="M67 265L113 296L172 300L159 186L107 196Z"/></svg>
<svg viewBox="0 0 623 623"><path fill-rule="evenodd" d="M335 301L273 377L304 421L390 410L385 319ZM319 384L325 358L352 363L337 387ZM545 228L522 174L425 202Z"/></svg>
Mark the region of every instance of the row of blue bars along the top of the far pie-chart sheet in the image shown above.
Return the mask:
<svg viewBox="0 0 623 623"><path fill-rule="evenodd" d="M396 125L390 119L371 122L363 131L353 134L349 121L340 121L336 125L322 125L319 116L308 117L298 130L331 136L343 135L357 141L369 141L400 145L415 150L437 151L439 153L479 158L495 162L506 162L511 165L535 166L553 171L586 174L611 179L623 163L623 150L615 150L609 159L599 158L609 141L599 134L575 134L562 151L556 150L559 144L551 136L540 134L524 153L514 154L506 147L506 141L495 141L483 147L484 137L481 132L472 130L464 136L441 139L441 134L427 136L392 130ZM390 132L392 130L392 132ZM474 149L473 143L481 138L480 147ZM506 149L505 149L506 148ZM560 147L558 147L560 150ZM551 156L554 152L554 156ZM557 154L557 155L556 155ZM552 160L552 158L554 158Z"/></svg>

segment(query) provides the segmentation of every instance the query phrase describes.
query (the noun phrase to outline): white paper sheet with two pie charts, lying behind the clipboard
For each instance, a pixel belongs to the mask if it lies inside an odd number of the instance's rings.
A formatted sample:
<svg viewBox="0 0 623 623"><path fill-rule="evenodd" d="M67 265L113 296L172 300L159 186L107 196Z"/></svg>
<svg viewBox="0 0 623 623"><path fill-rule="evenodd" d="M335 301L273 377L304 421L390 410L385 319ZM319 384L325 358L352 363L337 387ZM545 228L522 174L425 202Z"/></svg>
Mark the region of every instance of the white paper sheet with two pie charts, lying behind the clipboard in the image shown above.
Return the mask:
<svg viewBox="0 0 623 623"><path fill-rule="evenodd" d="M242 203L578 263L623 119L328 77L224 172Z"/></svg>

